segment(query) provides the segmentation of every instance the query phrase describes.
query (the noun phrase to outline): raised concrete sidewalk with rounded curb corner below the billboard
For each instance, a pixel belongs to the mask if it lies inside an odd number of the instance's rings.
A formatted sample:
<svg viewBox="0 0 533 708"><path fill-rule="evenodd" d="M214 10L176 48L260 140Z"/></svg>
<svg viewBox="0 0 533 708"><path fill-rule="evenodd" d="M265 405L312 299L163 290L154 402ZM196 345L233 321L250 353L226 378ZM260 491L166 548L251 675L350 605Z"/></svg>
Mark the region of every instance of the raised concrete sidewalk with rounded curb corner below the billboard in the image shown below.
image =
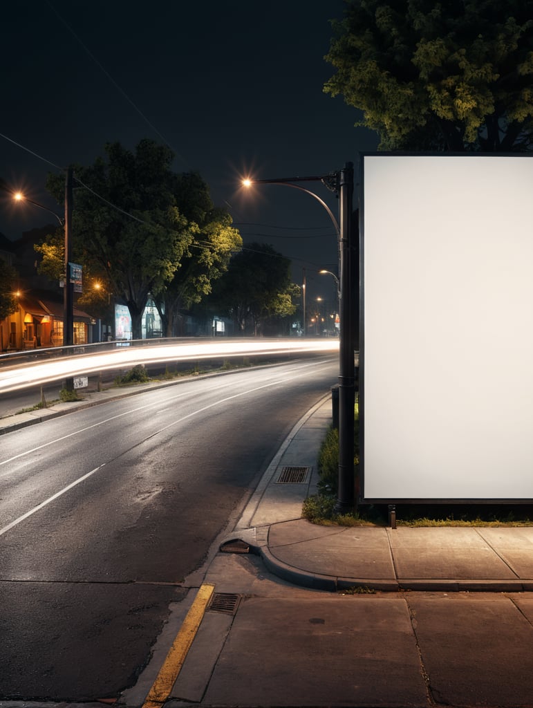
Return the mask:
<svg viewBox="0 0 533 708"><path fill-rule="evenodd" d="M325 399L295 426L222 550L247 544L275 575L317 590L533 590L533 527L392 529L302 519L330 423Z"/></svg>

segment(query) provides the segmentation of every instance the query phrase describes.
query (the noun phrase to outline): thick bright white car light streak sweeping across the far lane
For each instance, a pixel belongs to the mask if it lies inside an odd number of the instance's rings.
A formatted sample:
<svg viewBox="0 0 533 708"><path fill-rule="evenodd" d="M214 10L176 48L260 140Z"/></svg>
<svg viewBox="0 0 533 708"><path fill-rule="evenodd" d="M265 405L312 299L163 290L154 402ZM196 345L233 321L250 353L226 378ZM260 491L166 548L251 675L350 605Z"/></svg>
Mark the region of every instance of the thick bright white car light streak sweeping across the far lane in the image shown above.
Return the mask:
<svg viewBox="0 0 533 708"><path fill-rule="evenodd" d="M164 361L196 361L218 357L257 356L287 353L338 352L337 339L324 340L255 340L171 344L151 347L120 347L94 354L62 357L48 362L32 362L0 369L0 393L39 386L57 379L87 375L109 369Z"/></svg>

